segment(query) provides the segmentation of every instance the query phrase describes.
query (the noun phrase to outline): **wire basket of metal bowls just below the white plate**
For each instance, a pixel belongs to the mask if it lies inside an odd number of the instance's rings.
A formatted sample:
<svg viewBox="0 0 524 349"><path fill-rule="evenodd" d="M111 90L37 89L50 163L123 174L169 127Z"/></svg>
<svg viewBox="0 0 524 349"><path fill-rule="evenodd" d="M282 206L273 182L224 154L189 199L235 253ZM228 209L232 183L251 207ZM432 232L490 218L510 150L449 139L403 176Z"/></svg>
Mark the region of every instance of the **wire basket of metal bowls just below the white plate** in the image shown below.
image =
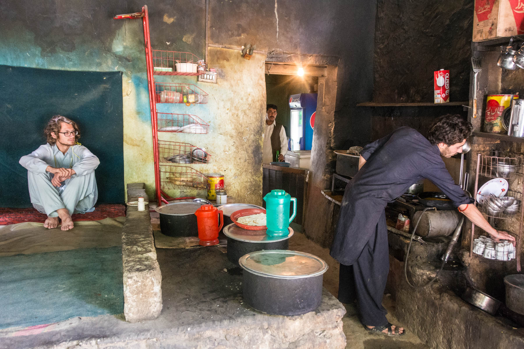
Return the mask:
<svg viewBox="0 0 524 349"><path fill-rule="evenodd" d="M505 196L484 196L481 202L478 202L479 211L483 212L488 217L493 218L518 218L517 213L520 212L522 193L515 190L508 190Z"/></svg>

